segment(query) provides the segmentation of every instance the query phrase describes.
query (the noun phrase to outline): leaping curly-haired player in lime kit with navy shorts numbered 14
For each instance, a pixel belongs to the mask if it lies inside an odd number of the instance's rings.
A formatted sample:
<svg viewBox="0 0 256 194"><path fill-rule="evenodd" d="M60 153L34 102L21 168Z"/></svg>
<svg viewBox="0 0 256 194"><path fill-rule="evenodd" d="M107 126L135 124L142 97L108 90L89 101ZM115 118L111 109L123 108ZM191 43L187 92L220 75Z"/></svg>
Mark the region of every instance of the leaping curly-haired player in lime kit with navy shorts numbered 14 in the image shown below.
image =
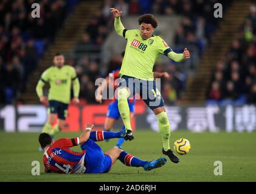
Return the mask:
<svg viewBox="0 0 256 194"><path fill-rule="evenodd" d="M175 53L162 38L154 36L153 32L157 27L157 21L153 15L140 16L140 30L126 30L120 20L122 12L119 12L116 8L110 8L110 10L115 17L114 28L117 34L127 40L125 56L120 70L121 80L118 92L119 112L126 130L124 138L130 140L134 138L127 98L134 95L134 93L139 93L140 96L146 95L147 98L144 98L144 102L157 117L159 132L162 136L162 153L167 155L172 162L178 163L178 156L170 149L170 123L165 112L161 93L156 89L156 82L153 79L153 66L157 56L161 54L176 62L184 61L184 59L190 58L189 50L185 48L183 53ZM128 84L128 80L131 81L131 79L134 80L135 78L139 79L140 82L146 82L147 85ZM149 87L152 90L149 90Z"/></svg>

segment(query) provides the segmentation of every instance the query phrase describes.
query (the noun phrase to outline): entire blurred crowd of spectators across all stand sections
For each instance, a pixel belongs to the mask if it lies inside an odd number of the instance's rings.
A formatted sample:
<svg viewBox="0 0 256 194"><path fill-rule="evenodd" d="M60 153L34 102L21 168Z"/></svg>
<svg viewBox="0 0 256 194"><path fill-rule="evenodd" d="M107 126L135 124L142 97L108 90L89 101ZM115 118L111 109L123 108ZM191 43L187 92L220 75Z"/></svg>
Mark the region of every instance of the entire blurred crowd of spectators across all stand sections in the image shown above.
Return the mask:
<svg viewBox="0 0 256 194"><path fill-rule="evenodd" d="M31 4L40 3L41 18L32 18ZM15 0L0 2L0 102L12 103L20 93L26 92L29 75L36 69L38 61L50 42L54 42L56 33L72 7L78 0ZM122 10L122 16L142 15L180 15L181 25L175 30L174 45L171 48L178 53L187 47L191 52L189 69L196 70L200 56L211 42L212 33L218 27L213 16L213 5L220 2L224 12L231 1L217 0L104 0L101 10L85 27L77 44L83 55L68 59L80 79L80 98L94 103L95 79L104 78L120 67L121 53L112 56L107 73L100 69L100 48L113 30L113 17L110 7ZM244 23L240 38L234 40L226 59L216 64L216 71L207 92L209 103L223 99L248 101L254 97L255 79L255 7ZM171 24L170 24L171 25ZM166 40L167 43L169 40ZM252 57L253 56L253 57ZM187 64L184 66L188 66ZM181 99L186 87L188 69L169 61L167 64L157 61L154 71L168 72L170 78L162 79L161 91L166 104L175 104ZM230 92L230 90L234 92ZM89 91L89 92L88 92ZM226 103L226 102L225 102Z"/></svg>

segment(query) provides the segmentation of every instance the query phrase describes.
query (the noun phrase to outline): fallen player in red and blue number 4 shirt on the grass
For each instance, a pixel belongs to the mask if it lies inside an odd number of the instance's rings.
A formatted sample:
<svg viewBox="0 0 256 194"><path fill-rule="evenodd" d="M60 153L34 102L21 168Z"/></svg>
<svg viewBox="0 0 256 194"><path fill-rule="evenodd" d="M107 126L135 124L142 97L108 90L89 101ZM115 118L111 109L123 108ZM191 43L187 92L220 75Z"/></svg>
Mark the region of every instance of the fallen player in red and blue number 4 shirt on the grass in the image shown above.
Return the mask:
<svg viewBox="0 0 256 194"><path fill-rule="evenodd" d="M144 170L152 170L161 167L167 161L159 158L155 161L142 161L129 153L112 148L106 153L102 152L95 141L104 139L122 138L121 132L103 132L91 130L94 125L87 124L85 132L79 138L58 139L54 142L48 133L41 133L38 140L44 149L44 171L47 173L107 173L112 164L119 159L126 166L143 167ZM83 152L73 152L70 147L80 145Z"/></svg>

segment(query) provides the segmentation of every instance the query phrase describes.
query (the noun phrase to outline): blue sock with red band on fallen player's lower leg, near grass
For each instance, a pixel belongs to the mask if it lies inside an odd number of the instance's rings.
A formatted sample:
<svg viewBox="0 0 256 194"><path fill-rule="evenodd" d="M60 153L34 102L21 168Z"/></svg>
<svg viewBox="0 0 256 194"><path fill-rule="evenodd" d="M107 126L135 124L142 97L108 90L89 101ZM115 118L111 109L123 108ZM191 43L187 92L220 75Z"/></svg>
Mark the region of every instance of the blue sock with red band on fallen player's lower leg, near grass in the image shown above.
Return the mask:
<svg viewBox="0 0 256 194"><path fill-rule="evenodd" d="M123 164L126 166L133 166L133 167L143 167L148 161L143 161L139 158L135 158L133 155L123 151L120 153L118 158Z"/></svg>

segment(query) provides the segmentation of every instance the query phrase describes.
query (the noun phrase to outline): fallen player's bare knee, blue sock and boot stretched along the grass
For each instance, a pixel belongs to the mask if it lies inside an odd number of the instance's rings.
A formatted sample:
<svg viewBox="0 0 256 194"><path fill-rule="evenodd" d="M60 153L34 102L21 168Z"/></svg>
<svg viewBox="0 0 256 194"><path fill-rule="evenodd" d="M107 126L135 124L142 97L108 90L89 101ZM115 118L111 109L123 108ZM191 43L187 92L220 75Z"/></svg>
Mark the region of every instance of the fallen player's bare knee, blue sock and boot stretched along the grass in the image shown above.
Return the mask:
<svg viewBox="0 0 256 194"><path fill-rule="evenodd" d="M111 164L114 164L114 162L119 159L126 166L143 167L144 170L156 169L163 166L167 161L165 158L159 158L154 161L144 161L116 147L106 152L105 155L111 158Z"/></svg>

